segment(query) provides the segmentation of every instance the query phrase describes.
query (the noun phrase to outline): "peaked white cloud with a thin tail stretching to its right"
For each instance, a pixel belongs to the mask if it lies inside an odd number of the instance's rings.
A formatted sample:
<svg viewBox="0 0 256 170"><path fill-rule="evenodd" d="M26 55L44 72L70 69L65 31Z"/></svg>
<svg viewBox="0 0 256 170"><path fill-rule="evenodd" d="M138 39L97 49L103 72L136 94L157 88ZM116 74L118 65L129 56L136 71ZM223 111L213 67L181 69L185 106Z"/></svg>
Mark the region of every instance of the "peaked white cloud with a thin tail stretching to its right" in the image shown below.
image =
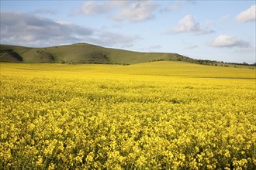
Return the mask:
<svg viewBox="0 0 256 170"><path fill-rule="evenodd" d="M178 22L178 26L171 30L171 33L192 32L195 35L212 33L213 30L202 29L199 22L196 22L192 15L186 15Z"/></svg>

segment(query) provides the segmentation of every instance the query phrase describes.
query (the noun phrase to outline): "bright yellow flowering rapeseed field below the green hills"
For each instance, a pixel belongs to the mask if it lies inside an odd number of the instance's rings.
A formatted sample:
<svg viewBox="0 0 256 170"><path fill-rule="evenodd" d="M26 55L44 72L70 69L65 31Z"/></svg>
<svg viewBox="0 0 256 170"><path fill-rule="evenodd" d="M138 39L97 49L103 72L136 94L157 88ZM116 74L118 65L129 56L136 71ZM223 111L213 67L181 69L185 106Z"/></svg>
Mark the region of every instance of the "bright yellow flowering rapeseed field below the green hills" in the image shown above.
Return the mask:
<svg viewBox="0 0 256 170"><path fill-rule="evenodd" d="M255 169L255 69L1 63L1 169Z"/></svg>

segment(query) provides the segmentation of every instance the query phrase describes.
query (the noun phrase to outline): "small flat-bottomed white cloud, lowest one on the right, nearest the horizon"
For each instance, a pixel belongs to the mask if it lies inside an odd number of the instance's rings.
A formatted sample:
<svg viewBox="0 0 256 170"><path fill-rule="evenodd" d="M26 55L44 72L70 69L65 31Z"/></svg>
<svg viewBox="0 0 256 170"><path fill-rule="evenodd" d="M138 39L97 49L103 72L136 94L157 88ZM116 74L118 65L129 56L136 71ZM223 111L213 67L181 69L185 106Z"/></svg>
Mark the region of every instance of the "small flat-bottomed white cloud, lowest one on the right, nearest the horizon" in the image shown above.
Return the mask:
<svg viewBox="0 0 256 170"><path fill-rule="evenodd" d="M246 42L242 39L237 39L235 36L220 35L216 39L213 39L212 42L209 42L209 46L214 47L240 47L248 48L250 46L249 42Z"/></svg>

